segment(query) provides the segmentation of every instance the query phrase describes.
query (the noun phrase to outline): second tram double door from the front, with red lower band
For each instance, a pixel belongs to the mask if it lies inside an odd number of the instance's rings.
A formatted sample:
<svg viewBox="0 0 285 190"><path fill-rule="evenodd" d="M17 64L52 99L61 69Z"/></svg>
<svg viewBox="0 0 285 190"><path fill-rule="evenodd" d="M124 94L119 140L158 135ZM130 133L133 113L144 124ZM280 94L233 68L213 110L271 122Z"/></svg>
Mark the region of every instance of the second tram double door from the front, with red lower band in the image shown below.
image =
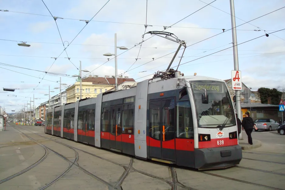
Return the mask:
<svg viewBox="0 0 285 190"><path fill-rule="evenodd" d="M111 111L110 148L122 151L122 105L113 106Z"/></svg>

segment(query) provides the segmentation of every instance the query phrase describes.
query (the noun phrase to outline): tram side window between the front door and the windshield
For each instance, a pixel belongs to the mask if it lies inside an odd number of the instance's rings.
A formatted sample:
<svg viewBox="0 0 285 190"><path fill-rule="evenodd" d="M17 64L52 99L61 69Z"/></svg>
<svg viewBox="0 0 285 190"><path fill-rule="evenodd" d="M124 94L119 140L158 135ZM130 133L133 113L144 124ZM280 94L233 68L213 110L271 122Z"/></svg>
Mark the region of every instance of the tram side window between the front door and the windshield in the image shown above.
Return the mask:
<svg viewBox="0 0 285 190"><path fill-rule="evenodd" d="M180 101L177 104L176 137L194 139L193 119L189 101Z"/></svg>

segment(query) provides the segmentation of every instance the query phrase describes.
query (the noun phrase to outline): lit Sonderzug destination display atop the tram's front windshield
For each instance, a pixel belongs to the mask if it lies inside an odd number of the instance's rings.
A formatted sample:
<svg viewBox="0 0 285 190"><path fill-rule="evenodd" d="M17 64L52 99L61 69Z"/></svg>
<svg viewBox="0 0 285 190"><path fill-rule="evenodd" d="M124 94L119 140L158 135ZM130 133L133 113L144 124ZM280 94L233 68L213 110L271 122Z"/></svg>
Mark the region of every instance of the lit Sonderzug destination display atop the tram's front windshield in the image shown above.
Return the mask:
<svg viewBox="0 0 285 190"><path fill-rule="evenodd" d="M223 83L192 83L193 92L224 92Z"/></svg>

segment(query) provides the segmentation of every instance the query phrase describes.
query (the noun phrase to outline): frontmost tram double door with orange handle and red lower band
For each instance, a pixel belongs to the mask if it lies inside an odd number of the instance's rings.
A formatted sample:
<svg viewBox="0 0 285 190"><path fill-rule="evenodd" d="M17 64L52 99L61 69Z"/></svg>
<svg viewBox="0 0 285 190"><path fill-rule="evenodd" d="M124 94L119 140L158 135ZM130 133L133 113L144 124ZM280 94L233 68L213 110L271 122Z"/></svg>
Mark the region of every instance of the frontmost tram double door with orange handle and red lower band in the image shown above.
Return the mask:
<svg viewBox="0 0 285 190"><path fill-rule="evenodd" d="M149 103L149 156L175 161L175 99Z"/></svg>

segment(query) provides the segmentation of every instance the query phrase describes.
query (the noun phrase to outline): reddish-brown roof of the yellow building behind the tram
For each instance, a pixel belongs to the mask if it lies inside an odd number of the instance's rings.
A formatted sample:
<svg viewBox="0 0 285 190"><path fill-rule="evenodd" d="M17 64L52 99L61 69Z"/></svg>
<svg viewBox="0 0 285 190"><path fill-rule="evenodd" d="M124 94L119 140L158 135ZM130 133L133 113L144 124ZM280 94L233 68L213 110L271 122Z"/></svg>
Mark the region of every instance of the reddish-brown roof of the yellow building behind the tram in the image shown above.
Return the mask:
<svg viewBox="0 0 285 190"><path fill-rule="evenodd" d="M109 82L107 82L106 81ZM105 77L86 77L84 79L82 79L82 82L92 82L93 85L115 85L115 78L106 78ZM122 84L123 82L126 82L126 81L134 81L135 82L135 79L133 78L118 78L118 85Z"/></svg>

